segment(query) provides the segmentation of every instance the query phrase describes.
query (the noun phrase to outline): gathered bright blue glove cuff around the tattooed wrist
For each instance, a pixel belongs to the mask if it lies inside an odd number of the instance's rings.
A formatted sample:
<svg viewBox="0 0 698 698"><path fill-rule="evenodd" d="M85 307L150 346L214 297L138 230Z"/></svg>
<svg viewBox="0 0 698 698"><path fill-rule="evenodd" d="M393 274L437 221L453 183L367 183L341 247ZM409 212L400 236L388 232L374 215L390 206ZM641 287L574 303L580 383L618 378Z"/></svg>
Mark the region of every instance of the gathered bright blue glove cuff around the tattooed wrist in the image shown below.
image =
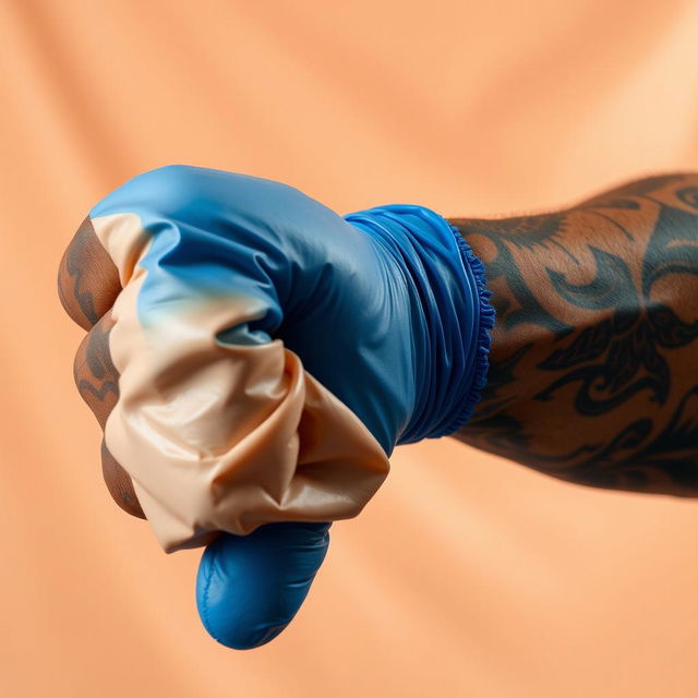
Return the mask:
<svg viewBox="0 0 698 698"><path fill-rule="evenodd" d="M486 385L495 310L484 266L458 229L424 206L376 206L345 219L378 240L407 279L416 400L396 444L452 434Z"/></svg>

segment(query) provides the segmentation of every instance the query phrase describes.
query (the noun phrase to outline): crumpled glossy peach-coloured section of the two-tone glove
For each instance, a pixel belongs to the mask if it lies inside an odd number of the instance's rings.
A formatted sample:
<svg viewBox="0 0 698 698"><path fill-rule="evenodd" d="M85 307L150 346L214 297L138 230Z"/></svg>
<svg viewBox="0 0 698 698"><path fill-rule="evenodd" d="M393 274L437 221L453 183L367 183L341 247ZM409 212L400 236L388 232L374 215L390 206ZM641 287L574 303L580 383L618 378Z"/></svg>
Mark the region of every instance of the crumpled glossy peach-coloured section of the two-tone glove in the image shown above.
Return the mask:
<svg viewBox="0 0 698 698"><path fill-rule="evenodd" d="M149 269L134 260L154 255L159 239L144 237L136 215L92 221L124 284L111 311L119 400L105 442L163 549L206 545L220 530L244 535L273 521L359 514L389 470L366 426L280 339L217 338L258 317L258 299L172 277L143 320Z"/></svg>

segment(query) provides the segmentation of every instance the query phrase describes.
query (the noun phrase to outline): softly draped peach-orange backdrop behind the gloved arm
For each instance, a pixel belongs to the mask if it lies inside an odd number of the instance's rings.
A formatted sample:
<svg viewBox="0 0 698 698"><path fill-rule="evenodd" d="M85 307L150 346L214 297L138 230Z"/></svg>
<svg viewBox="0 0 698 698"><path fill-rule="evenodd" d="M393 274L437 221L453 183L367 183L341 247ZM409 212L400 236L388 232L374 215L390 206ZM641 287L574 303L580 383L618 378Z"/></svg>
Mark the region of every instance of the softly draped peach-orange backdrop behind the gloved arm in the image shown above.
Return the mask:
<svg viewBox="0 0 698 698"><path fill-rule="evenodd" d="M0 3L2 695L698 695L698 502L399 447L249 652L198 622L200 552L112 504L56 272L125 179L184 163L338 213L486 216L698 166L695 1L330 4Z"/></svg>

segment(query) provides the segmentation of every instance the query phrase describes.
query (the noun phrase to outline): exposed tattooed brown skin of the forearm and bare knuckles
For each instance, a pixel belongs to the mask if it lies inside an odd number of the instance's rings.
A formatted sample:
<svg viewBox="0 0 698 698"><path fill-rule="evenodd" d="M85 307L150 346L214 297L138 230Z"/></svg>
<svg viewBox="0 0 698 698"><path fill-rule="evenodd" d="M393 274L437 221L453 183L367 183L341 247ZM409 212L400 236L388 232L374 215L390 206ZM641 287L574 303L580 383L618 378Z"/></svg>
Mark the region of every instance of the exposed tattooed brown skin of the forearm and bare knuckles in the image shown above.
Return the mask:
<svg viewBox="0 0 698 698"><path fill-rule="evenodd" d="M555 212L450 218L484 264L497 317L488 385L453 437L570 482L698 495L698 172L643 178ZM58 290L88 334L75 384L104 430L121 290L85 218ZM117 504L145 518L101 442Z"/></svg>

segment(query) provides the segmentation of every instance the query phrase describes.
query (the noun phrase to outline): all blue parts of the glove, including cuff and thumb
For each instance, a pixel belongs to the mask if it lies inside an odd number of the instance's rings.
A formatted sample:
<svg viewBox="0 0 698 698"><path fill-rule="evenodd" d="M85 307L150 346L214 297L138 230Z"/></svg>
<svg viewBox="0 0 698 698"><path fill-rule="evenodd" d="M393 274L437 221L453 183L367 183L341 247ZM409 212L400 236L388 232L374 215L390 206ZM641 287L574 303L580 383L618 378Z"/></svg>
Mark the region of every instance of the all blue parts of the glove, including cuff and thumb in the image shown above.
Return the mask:
<svg viewBox="0 0 698 698"><path fill-rule="evenodd" d="M154 236L141 261L148 278L167 267L258 298L266 313L220 338L280 338L387 456L450 434L472 414L494 310L482 264L434 212L397 204L341 217L287 184L188 166L133 178L91 216L124 212ZM208 633L236 649L278 635L309 592L329 527L275 522L219 535L196 578Z"/></svg>

